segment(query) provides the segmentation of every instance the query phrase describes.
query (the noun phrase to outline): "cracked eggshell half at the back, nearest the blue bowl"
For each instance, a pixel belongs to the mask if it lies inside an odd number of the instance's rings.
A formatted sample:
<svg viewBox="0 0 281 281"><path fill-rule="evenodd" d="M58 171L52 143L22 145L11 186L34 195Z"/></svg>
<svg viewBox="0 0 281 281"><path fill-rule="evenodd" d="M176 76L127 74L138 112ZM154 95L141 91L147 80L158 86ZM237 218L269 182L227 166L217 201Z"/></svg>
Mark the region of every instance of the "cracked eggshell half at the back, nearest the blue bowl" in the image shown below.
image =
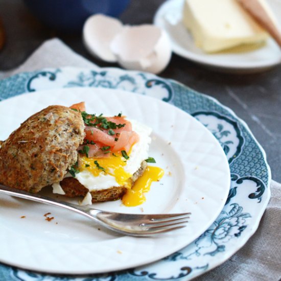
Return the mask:
<svg viewBox="0 0 281 281"><path fill-rule="evenodd" d="M114 17L92 15L85 21L83 27L84 45L91 55L107 62L116 62L116 57L110 49L110 42L122 29L122 22Z"/></svg>

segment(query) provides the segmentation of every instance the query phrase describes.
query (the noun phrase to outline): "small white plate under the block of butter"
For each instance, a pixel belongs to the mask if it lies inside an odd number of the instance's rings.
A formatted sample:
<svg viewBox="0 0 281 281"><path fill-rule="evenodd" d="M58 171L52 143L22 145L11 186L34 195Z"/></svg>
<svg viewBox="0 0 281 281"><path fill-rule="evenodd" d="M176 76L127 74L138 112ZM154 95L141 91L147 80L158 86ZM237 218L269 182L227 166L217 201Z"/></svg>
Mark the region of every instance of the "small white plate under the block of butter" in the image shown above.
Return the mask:
<svg viewBox="0 0 281 281"><path fill-rule="evenodd" d="M281 1L267 0L267 3L281 26ZM203 52L196 46L192 34L183 25L183 4L183 0L169 0L160 6L154 17L154 24L168 33L172 50L177 55L207 67L234 73L259 72L281 63L281 50L271 38L263 44L244 45L220 53Z"/></svg>

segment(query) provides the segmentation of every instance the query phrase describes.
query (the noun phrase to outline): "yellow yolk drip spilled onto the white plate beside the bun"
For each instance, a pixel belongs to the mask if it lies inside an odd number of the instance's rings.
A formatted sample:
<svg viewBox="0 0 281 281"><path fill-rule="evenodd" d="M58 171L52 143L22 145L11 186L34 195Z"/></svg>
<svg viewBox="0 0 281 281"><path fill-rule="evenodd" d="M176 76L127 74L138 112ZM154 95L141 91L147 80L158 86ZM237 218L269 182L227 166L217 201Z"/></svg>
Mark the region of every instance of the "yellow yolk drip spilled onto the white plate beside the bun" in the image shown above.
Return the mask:
<svg viewBox="0 0 281 281"><path fill-rule="evenodd" d="M122 197L125 206L138 206L146 201L145 192L150 190L152 181L158 181L164 175L164 171L158 167L148 166L144 174L139 177L132 189L128 189Z"/></svg>

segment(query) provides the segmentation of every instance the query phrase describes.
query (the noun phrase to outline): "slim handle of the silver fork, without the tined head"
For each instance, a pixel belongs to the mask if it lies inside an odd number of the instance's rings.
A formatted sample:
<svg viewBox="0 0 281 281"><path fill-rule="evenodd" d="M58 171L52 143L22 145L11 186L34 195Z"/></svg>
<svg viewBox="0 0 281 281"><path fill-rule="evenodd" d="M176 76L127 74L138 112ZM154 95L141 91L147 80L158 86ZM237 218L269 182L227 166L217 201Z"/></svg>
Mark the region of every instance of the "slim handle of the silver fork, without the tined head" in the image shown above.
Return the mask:
<svg viewBox="0 0 281 281"><path fill-rule="evenodd" d="M0 184L0 193L19 197L19 198L28 199L28 200L32 200L35 202L40 202L40 203L68 209L68 210L72 210L73 212L79 213L80 215L83 215L90 219L94 219L96 221L98 221L98 219L96 218L97 214L103 212L102 210L99 210L99 209L78 206L78 205L74 205L72 203L67 203L67 202L56 200L53 198L41 196L39 194L26 192L24 190L17 190L17 189L9 188L8 186L3 185L3 184ZM90 211L90 214L89 214L89 211Z"/></svg>

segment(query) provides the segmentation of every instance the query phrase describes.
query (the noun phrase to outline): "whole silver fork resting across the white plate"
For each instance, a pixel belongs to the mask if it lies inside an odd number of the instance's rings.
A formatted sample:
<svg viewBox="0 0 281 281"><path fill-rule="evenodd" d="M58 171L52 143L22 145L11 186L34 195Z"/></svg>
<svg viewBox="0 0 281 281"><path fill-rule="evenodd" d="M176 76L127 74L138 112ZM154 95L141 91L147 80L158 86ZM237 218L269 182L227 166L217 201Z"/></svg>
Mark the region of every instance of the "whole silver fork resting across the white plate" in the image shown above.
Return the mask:
<svg viewBox="0 0 281 281"><path fill-rule="evenodd" d="M185 227L191 215L191 213L138 215L107 212L9 188L2 184L0 193L72 210L111 230L129 236L150 236Z"/></svg>

